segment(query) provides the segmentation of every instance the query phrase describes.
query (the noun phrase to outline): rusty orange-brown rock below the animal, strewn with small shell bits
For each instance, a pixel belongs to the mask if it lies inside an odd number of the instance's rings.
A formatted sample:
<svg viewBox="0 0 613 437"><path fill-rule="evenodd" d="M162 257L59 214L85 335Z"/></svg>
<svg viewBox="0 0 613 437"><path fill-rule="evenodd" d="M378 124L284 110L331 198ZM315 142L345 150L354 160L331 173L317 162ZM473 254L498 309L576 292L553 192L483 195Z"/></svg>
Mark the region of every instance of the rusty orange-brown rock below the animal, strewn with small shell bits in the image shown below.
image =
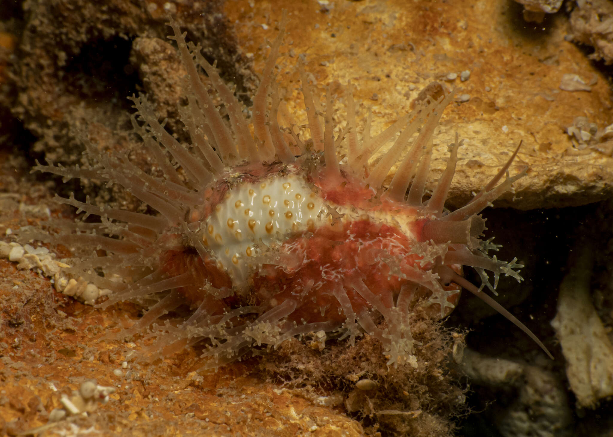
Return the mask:
<svg viewBox="0 0 613 437"><path fill-rule="evenodd" d="M0 260L0 308L0 432L17 435L47 425L51 410L63 406L62 394L96 379L115 388L109 402L89 417L56 422L45 435L363 435L345 414L241 376L242 365L199 375L189 367L194 351L151 365L128 363L116 346L99 342L115 323L112 312L61 296L48 280L7 260Z"/></svg>

